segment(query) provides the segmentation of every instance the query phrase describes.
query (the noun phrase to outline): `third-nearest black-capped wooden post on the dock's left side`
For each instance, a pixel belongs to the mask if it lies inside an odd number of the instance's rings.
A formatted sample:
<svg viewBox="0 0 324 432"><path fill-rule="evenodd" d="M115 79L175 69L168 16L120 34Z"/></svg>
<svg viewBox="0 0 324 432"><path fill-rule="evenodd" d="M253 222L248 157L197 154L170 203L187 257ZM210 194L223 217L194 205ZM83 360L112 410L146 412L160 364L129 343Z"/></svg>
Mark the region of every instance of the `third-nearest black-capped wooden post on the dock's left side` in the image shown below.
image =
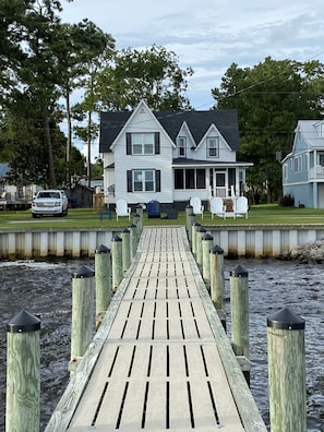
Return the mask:
<svg viewBox="0 0 324 432"><path fill-rule="evenodd" d="M111 255L110 249L104 244L96 249L95 253L96 275L96 328L98 328L103 316L111 301Z"/></svg>

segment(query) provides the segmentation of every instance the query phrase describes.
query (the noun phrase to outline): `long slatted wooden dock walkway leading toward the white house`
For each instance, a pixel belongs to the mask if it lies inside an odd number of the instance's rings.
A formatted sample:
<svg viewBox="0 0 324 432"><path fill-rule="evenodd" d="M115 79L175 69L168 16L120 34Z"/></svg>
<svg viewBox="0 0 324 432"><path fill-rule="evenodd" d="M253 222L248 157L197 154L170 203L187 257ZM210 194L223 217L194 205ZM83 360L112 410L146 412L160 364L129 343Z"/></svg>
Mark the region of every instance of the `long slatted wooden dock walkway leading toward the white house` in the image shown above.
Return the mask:
<svg viewBox="0 0 324 432"><path fill-rule="evenodd" d="M185 229L144 228L46 432L217 429L266 432Z"/></svg>

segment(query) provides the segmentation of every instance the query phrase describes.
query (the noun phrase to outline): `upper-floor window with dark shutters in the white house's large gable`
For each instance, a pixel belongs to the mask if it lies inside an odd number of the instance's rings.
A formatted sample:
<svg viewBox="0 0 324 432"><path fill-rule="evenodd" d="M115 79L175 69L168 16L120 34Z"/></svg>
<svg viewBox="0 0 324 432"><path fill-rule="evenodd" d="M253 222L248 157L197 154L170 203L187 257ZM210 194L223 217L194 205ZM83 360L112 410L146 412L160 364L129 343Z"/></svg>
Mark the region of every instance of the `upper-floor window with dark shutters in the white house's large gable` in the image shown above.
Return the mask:
<svg viewBox="0 0 324 432"><path fill-rule="evenodd" d="M127 155L159 154L159 133L127 133Z"/></svg>

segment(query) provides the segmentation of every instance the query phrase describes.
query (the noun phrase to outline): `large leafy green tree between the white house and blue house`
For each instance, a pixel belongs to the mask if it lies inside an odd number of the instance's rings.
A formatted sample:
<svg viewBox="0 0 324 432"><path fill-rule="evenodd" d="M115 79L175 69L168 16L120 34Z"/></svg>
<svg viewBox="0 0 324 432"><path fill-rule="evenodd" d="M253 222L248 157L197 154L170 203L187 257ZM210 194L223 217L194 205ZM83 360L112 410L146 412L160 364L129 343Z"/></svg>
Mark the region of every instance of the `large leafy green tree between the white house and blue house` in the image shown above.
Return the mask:
<svg viewBox="0 0 324 432"><path fill-rule="evenodd" d="M254 194L266 191L267 202L281 194L280 158L291 149L300 118L316 116L301 64L269 57L252 69L231 64L219 88L212 91L214 108L236 108L241 148L239 160L253 161L247 181Z"/></svg>

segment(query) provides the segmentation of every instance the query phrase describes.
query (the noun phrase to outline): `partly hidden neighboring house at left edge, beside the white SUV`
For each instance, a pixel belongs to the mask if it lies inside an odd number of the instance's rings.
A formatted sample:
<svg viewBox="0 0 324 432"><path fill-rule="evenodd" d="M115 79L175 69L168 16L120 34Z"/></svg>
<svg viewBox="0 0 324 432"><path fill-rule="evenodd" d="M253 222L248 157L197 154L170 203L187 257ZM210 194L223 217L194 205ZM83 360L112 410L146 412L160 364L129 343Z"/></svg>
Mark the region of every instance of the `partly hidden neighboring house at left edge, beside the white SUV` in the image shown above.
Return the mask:
<svg viewBox="0 0 324 432"><path fill-rule="evenodd" d="M5 179L9 171L9 165L0 163L0 208L29 207L33 196L39 188L36 184L9 184Z"/></svg>

